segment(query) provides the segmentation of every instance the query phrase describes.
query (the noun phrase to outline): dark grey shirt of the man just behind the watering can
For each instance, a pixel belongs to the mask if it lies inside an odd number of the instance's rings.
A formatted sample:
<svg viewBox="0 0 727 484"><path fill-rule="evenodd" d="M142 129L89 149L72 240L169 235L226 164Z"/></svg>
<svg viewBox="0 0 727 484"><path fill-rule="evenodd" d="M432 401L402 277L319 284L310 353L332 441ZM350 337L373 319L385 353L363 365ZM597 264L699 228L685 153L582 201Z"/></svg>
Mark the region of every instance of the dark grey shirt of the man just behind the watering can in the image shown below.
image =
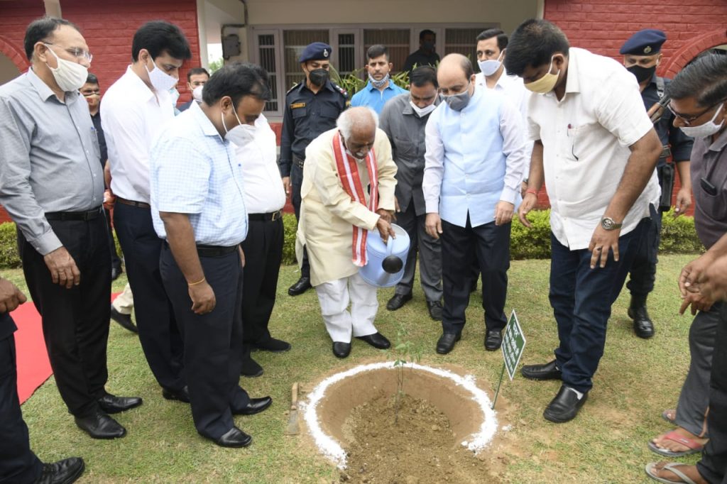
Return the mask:
<svg viewBox="0 0 727 484"><path fill-rule="evenodd" d="M439 105L437 97L435 105ZM381 111L379 123L391 143L391 153L397 167L396 171L396 200L401 211L414 203L417 215L427 213L422 193L422 180L424 178L424 129L427 126L429 114L422 118L414 112L409 104L409 93L392 97Z"/></svg>

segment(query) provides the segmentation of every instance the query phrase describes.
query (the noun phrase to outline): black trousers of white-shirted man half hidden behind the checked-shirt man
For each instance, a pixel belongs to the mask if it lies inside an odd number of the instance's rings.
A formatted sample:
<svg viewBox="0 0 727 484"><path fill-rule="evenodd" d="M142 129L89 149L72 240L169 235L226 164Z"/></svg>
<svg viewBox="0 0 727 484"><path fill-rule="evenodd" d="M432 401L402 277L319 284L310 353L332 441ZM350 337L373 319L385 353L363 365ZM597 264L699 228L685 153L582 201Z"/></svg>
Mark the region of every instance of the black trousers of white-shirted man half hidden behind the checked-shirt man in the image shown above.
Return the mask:
<svg viewBox="0 0 727 484"><path fill-rule="evenodd" d="M249 220L242 243L245 270L242 284L242 334L244 357L250 344L270 339L268 323L275 306L278 273L283 259L283 219Z"/></svg>

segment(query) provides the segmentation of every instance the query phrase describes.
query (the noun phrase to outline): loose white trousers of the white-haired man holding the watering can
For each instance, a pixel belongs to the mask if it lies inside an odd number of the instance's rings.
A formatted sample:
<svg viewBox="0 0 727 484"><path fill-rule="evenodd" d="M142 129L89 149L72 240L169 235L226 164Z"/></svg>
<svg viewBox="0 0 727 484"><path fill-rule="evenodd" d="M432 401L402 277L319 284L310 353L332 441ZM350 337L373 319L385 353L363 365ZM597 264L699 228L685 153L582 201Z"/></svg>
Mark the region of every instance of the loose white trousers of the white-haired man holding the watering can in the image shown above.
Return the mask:
<svg viewBox="0 0 727 484"><path fill-rule="evenodd" d="M334 342L350 343L351 336L367 336L377 332L374 318L379 309L376 288L358 273L316 286L321 315ZM351 310L348 311L348 303Z"/></svg>

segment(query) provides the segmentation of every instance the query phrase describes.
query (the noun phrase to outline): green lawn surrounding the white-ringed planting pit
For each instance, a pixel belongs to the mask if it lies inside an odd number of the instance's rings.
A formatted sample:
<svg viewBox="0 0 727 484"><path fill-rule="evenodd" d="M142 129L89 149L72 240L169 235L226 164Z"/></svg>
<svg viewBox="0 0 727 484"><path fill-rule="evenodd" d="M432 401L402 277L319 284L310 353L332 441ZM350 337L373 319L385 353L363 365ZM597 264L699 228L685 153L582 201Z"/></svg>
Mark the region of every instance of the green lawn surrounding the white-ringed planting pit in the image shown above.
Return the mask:
<svg viewBox="0 0 727 484"><path fill-rule="evenodd" d="M646 446L648 439L668 429L660 414L672 408L688 368L688 328L691 317L678 315L676 280L694 256L664 256L659 263L656 291L649 310L656 322L653 339L638 339L627 318L627 294L614 304L606 353L595 376L595 387L581 414L568 424L550 424L542 411L558 391L558 382L530 382L519 374L503 384L497 403L501 432L483 451L480 464L489 466L493 482L510 483L632 483L647 482L643 466L659 460ZM515 308L527 337L524 363L553 358L558 342L547 299L549 262L514 261L506 312ZM4 277L23 287L20 270ZM161 397L145 363L137 337L116 324L108 342L107 390L116 395L140 395L144 404L117 416L128 429L123 439L92 440L73 424L51 378L23 405L31 446L44 461L83 456L87 470L81 483L331 483L338 480L332 464L317 456L305 435L283 435L293 382L311 384L323 374L361 361L385 360L385 353L355 340L346 360L334 358L321 321L315 291L289 297L297 267L281 267L278 304L270 328L273 336L292 342L290 352L255 352L265 368L257 379L241 379L252 396L271 395L273 406L256 416L236 418L254 438L246 449L224 449L199 437L189 407ZM124 278L114 283L121 291ZM393 337L397 323L412 342L424 345L423 364L453 364L466 368L480 387L494 395L502 368L500 352L483 349L480 297L467 310L469 323L462 341L449 355L436 355L441 325L430 320L421 289L397 312L385 310L391 289L379 291L377 328ZM362 389L365 391L366 389ZM694 462L693 456L682 459Z"/></svg>

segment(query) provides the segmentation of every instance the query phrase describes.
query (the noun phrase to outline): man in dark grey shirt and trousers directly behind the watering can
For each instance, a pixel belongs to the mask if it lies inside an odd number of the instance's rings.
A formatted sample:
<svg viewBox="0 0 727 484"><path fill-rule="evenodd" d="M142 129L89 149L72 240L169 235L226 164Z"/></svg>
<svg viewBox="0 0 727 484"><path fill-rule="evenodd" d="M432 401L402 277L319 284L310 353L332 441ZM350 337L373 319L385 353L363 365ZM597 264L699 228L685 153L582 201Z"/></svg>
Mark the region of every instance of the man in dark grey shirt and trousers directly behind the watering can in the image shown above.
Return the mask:
<svg viewBox="0 0 727 484"><path fill-rule="evenodd" d="M406 268L395 294L386 304L398 310L409 299L414 286L414 270L419 252L419 278L433 320L442 320L442 253L440 242L427 234L427 217L422 178L424 177L425 126L430 113L441 102L437 89L436 70L428 65L416 68L409 75L409 89L385 105L381 113L381 129L389 137L396 163L396 223L407 233L411 245Z"/></svg>

